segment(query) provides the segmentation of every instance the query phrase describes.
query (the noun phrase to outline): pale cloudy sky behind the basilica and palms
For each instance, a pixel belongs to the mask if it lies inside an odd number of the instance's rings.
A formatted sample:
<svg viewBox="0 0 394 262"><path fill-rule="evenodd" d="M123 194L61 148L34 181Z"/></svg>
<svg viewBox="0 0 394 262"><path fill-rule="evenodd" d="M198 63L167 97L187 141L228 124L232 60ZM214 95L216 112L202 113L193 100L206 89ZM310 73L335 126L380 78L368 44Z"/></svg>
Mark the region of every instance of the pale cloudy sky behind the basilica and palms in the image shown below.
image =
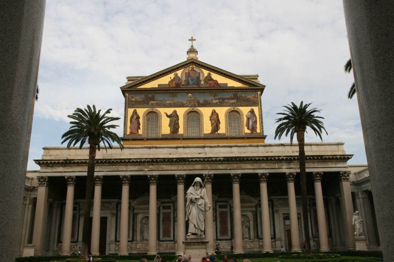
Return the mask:
<svg viewBox="0 0 394 262"><path fill-rule="evenodd" d="M366 164L342 0L47 0L28 170L42 147L61 146L77 107L112 108L122 136L119 87L184 61L191 36L199 60L259 74L266 143L290 142L274 140L276 113L304 101L321 109L323 142L344 142L348 164ZM305 142L320 141L311 132Z"/></svg>

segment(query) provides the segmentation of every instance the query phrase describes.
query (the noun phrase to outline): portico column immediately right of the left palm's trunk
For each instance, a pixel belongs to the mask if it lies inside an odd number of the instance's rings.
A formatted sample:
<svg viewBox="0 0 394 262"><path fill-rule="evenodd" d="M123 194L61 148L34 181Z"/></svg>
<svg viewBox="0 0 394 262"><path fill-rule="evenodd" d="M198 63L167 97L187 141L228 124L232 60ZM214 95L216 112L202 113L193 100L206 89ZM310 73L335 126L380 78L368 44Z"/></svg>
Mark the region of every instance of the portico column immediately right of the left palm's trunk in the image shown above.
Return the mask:
<svg viewBox="0 0 394 262"><path fill-rule="evenodd" d="M102 175L94 176L95 182L95 198L93 201L93 219L92 219L92 239L90 252L93 256L98 256L100 244L100 218L101 218L101 187Z"/></svg>

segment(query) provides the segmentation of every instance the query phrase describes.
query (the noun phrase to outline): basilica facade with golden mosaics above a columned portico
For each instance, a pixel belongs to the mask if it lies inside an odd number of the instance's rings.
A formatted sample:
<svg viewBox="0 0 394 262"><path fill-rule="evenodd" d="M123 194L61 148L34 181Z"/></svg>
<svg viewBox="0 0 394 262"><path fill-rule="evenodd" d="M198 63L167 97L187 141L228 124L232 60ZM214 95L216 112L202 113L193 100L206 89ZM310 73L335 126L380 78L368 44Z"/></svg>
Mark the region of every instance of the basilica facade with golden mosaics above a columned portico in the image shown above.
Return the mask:
<svg viewBox="0 0 394 262"><path fill-rule="evenodd" d="M193 45L187 55L120 88L124 149L97 152L90 251L183 254L185 192L196 177L212 206L208 252L217 244L222 252L301 251L305 227L313 250L378 249L368 179L355 175L367 168L347 164L343 143L305 144L304 225L298 146L265 143L259 76L204 63ZM40 170L27 173L19 256L69 255L81 246L88 151L44 147L34 160Z"/></svg>

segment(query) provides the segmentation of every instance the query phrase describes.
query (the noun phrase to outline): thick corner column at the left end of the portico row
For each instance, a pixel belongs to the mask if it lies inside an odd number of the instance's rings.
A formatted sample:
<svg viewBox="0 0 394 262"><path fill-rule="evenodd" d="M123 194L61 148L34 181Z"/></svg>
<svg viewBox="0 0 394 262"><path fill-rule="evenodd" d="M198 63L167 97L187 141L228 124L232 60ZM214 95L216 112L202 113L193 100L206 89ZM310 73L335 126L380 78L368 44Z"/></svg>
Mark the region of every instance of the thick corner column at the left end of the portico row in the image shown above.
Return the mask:
<svg viewBox="0 0 394 262"><path fill-rule="evenodd" d="M33 229L34 255L42 255L48 203L48 176L37 176L38 192Z"/></svg>

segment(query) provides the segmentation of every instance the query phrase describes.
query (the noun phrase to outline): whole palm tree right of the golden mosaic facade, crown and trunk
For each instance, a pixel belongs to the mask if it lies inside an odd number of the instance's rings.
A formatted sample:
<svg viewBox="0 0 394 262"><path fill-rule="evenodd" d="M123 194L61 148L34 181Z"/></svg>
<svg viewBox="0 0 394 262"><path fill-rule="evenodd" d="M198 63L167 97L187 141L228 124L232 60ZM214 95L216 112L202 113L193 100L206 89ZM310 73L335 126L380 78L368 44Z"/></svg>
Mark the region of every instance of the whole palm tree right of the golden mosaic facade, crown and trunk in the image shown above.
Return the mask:
<svg viewBox="0 0 394 262"><path fill-rule="evenodd" d="M303 101L297 106L292 102L291 105L283 106L285 108L284 112L277 113L277 115L281 115L281 118L276 119L276 123L278 126L275 130L276 139L281 139L282 135L285 134L287 136L290 133L290 143L293 144L293 137L297 134L298 141L298 159L299 159L299 173L301 178L301 195L302 195L302 219L304 222L304 233L305 233L305 252L310 253L310 238L309 238L309 223L308 223L308 199L307 199L307 191L306 191L306 171L305 171L305 150L304 150L304 136L306 128L309 127L315 132L315 135L319 136L320 140L322 139L323 130L328 135L326 129L324 128L324 124L320 119L324 119L322 116L316 116L316 113L319 113L320 110L316 108L308 109L311 105L303 104Z"/></svg>

